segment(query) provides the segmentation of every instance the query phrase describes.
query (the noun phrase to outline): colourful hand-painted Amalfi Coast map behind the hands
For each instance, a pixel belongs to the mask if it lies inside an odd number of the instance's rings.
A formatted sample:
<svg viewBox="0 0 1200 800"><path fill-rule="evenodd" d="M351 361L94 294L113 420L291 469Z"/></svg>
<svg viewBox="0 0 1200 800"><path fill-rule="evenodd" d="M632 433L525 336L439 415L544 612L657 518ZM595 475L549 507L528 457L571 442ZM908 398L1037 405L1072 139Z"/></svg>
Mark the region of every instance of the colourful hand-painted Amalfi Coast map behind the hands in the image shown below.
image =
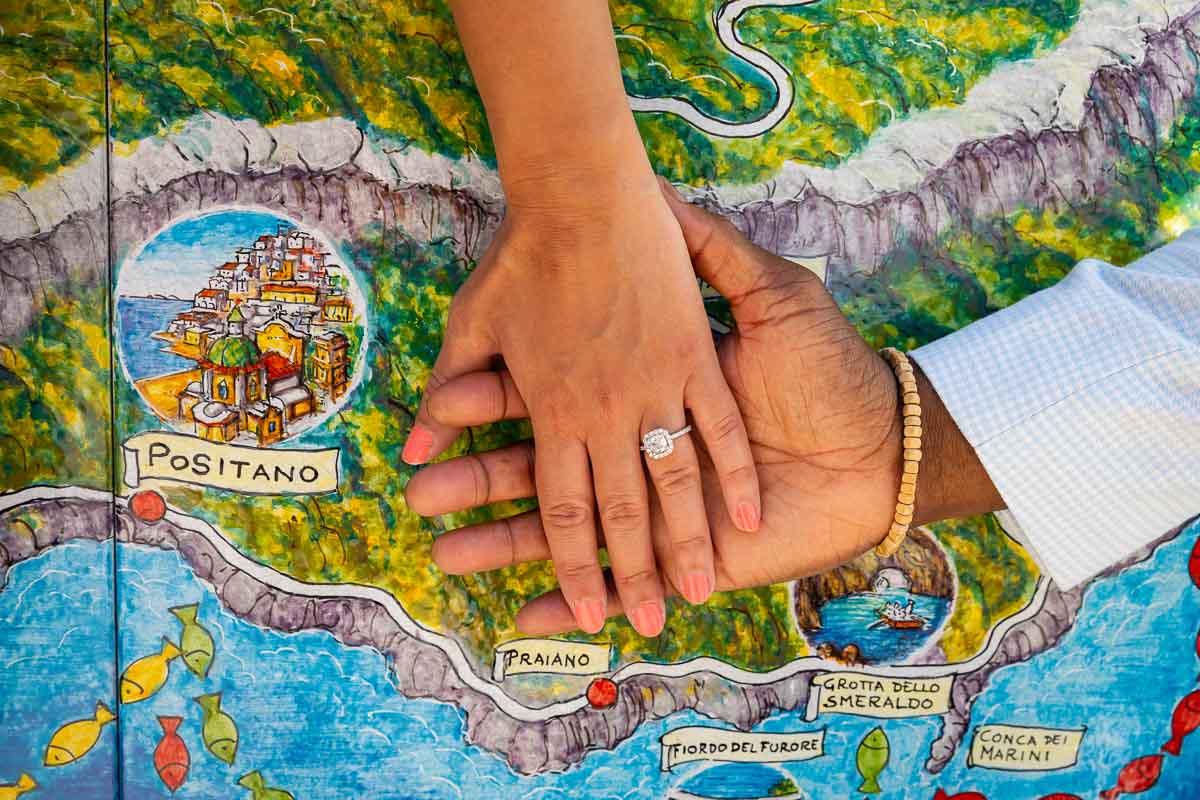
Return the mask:
<svg viewBox="0 0 1200 800"><path fill-rule="evenodd" d="M1200 224L1194 0L610 7L655 169L872 347ZM0 78L0 800L1200 792L1196 521L1069 591L942 522L653 639L438 570L528 507L404 503L504 212L444 4L8 4Z"/></svg>

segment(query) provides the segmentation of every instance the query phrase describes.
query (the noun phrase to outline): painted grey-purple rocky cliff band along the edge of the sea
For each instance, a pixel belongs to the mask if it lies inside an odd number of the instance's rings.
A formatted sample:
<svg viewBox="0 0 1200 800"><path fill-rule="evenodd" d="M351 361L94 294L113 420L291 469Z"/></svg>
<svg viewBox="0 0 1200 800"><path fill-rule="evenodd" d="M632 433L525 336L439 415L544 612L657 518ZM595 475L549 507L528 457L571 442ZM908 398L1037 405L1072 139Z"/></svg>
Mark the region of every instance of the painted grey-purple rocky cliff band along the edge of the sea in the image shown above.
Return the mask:
<svg viewBox="0 0 1200 800"><path fill-rule="evenodd" d="M338 596L337 587L318 587L324 596L305 596L270 585L233 564L224 548L209 536L176 522L182 516L178 512L146 523L131 513L122 499L113 501L106 493L90 489L41 487L5 499L7 507L0 512L0 588L13 564L73 540L107 541L115 535L119 542L175 551L221 603L245 621L284 633L322 630L342 644L376 649L388 660L396 686L406 697L457 705L467 715L468 744L502 754L521 774L566 769L582 762L588 751L614 747L643 722L689 709L748 730L776 711L803 708L812 678L828 672L804 660L782 679L736 684L700 664L667 664L660 674L622 679L617 703L610 709L576 704L572 710L545 718L518 720L496 698L470 686L443 649L406 632L380 603ZM1171 531L1111 572L1148 558L1177 533ZM1013 625L997 627L989 652L955 676L950 714L926 762L930 771L943 769L961 745L971 704L989 676L1006 664L1052 648L1070 630L1086 587L1063 593L1044 583L1043 589L1036 609Z"/></svg>

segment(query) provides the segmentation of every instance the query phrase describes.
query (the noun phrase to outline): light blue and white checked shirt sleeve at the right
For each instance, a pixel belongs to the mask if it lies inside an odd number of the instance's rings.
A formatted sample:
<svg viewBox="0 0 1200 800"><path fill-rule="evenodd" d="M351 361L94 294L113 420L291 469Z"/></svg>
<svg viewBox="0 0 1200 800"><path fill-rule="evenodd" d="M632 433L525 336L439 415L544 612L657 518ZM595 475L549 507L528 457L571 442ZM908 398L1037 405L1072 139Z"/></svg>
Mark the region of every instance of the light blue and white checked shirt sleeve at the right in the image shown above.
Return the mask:
<svg viewBox="0 0 1200 800"><path fill-rule="evenodd" d="M1200 513L1200 229L911 355L1060 587Z"/></svg>

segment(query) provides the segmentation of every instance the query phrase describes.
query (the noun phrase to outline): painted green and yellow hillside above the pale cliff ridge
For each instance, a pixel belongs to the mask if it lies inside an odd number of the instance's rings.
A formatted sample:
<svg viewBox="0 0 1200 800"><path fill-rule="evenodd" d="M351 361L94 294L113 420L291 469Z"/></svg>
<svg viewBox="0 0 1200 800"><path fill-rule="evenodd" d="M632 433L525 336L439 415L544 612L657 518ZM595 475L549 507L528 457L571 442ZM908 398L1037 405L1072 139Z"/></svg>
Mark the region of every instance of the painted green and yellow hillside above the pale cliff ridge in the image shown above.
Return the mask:
<svg viewBox="0 0 1200 800"><path fill-rule="evenodd" d="M0 126L17 132L0 142L0 188L36 181L101 143L100 7L0 4ZM713 8L708 0L613 2L629 91L755 119L774 88L721 47ZM738 31L793 74L799 102L787 119L746 140L712 139L660 114L640 124L655 163L677 180L757 181L786 160L828 166L895 115L956 103L995 65L1052 47L1076 11L1078 0L752 10ZM439 0L125 0L112 4L108 28L118 143L167 133L202 112L264 125L338 116L398 146L493 162Z"/></svg>

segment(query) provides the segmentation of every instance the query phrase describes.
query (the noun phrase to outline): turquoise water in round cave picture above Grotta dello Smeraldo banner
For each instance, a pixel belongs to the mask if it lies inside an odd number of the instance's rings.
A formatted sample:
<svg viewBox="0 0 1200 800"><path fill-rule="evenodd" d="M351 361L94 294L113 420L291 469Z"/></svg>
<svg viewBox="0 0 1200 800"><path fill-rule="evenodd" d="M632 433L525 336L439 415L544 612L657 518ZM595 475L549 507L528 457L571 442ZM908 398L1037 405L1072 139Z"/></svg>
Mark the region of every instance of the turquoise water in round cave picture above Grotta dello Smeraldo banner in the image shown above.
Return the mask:
<svg viewBox="0 0 1200 800"><path fill-rule="evenodd" d="M899 630L880 625L876 609L898 602L901 607L913 601L913 614L926 620L920 628ZM816 649L832 644L841 652L847 644L858 645L868 664L902 663L920 650L942 627L950 613L950 601L931 595L911 594L906 589L863 591L834 597L821 607L821 630L805 631L804 638Z"/></svg>

